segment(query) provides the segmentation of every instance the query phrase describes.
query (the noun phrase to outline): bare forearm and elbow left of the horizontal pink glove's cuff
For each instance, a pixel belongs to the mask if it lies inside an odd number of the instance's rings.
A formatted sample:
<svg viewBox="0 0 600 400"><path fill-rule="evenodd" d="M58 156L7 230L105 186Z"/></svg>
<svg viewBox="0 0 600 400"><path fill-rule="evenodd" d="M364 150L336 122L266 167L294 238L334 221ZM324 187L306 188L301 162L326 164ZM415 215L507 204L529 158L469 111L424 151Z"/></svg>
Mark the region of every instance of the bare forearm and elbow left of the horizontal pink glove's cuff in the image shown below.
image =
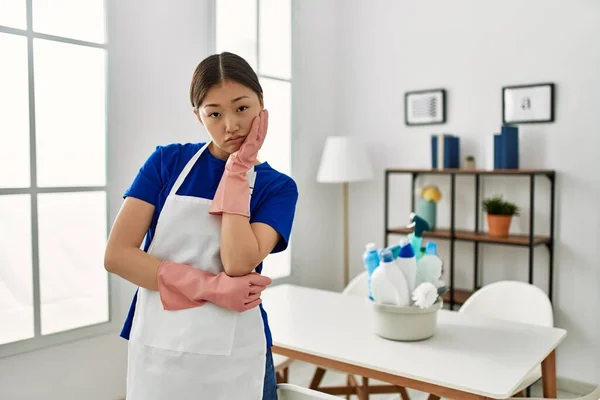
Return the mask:
<svg viewBox="0 0 600 400"><path fill-rule="evenodd" d="M149 290L158 290L157 272L161 262L137 247L111 249L104 258L108 272Z"/></svg>

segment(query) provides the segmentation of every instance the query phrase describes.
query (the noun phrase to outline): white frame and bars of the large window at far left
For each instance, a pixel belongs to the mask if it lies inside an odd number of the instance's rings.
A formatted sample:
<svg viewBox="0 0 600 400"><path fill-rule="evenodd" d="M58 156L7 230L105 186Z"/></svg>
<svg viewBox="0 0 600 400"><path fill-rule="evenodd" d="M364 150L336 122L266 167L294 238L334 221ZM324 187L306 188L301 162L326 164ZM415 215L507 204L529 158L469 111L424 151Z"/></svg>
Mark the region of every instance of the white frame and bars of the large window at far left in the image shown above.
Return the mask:
<svg viewBox="0 0 600 400"><path fill-rule="evenodd" d="M109 2L111 0L104 1L104 15L105 15L105 26L108 20ZM27 12L27 28L26 29L15 29L7 26L0 25L0 33L11 34L27 38L27 62L28 62L28 76L29 76L29 151L30 151L30 187L28 188L0 188L0 196L12 195L12 194L28 194L31 196L31 245L32 245L32 284L33 284L33 305L34 305L34 336L30 339L24 339L16 342L10 342L0 344L0 359L4 357L15 356L18 354L35 351L47 347L57 346L60 344L70 343L76 340L84 338L100 336L108 333L114 333L122 323L122 321L116 321L115 316L119 316L119 312L116 308L118 299L118 286L115 285L115 280L112 276L108 279L108 320L97 324L87 325L80 328L74 328L65 330L57 333L42 335L41 334L41 304L40 304L40 276L39 276L39 253L38 253L38 210L37 210L37 195L40 193L74 193L74 192L98 192L102 191L106 194L106 224L107 232L110 227L110 190L108 182L108 162L106 170L106 184L105 186L85 186L85 187L37 187L37 164L36 164L36 127L35 127L35 81L34 81L34 70L33 70L33 40L44 39L54 42L76 44L86 47L94 47L104 49L106 53L106 75L108 75L108 57L109 57L109 46L108 46L108 29L106 29L106 40L105 43L93 43L82 40L70 39L61 36L48 35L37 33L33 31L33 12L32 12L32 0L26 0L26 12ZM108 76L106 76L106 102L108 102ZM106 108L108 113L108 107ZM107 116L105 116L107 119ZM105 146L108 149L108 121L106 121L105 128ZM106 154L108 159L108 153ZM107 160L108 161L108 160ZM102 260L97 260L99 267L102 267ZM108 273L107 273L108 274ZM0 328L1 329L1 328Z"/></svg>

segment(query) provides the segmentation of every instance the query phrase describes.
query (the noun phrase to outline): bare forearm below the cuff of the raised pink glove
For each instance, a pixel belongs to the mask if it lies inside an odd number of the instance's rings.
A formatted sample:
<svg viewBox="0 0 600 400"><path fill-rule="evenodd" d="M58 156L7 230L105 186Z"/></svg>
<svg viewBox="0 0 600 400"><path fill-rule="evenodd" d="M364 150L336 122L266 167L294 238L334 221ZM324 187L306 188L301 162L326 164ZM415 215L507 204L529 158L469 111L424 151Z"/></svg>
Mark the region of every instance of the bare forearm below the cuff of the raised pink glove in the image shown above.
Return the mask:
<svg viewBox="0 0 600 400"><path fill-rule="evenodd" d="M246 275L262 261L259 241L247 217L223 213L221 261L229 276Z"/></svg>

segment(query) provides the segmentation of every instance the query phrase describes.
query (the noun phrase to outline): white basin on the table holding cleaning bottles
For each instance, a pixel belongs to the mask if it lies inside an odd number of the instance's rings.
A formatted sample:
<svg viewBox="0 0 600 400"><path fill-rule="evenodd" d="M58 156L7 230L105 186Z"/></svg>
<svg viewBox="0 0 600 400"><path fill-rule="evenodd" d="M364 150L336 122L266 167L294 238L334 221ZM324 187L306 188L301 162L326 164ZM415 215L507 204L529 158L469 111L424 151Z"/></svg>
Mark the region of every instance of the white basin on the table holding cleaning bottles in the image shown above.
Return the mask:
<svg viewBox="0 0 600 400"><path fill-rule="evenodd" d="M428 339L435 334L437 315L442 305L441 299L425 309L374 303L375 333L382 338L401 342Z"/></svg>

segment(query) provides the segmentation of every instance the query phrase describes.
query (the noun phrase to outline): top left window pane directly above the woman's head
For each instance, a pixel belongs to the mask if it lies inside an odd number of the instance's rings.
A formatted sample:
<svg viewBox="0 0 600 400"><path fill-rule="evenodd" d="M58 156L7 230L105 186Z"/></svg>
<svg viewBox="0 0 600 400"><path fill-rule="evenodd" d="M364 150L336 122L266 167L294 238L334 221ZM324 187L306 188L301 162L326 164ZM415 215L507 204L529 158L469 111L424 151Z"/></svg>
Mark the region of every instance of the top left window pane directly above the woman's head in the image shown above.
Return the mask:
<svg viewBox="0 0 600 400"><path fill-rule="evenodd" d="M217 0L217 52L243 57L256 71L256 0Z"/></svg>

